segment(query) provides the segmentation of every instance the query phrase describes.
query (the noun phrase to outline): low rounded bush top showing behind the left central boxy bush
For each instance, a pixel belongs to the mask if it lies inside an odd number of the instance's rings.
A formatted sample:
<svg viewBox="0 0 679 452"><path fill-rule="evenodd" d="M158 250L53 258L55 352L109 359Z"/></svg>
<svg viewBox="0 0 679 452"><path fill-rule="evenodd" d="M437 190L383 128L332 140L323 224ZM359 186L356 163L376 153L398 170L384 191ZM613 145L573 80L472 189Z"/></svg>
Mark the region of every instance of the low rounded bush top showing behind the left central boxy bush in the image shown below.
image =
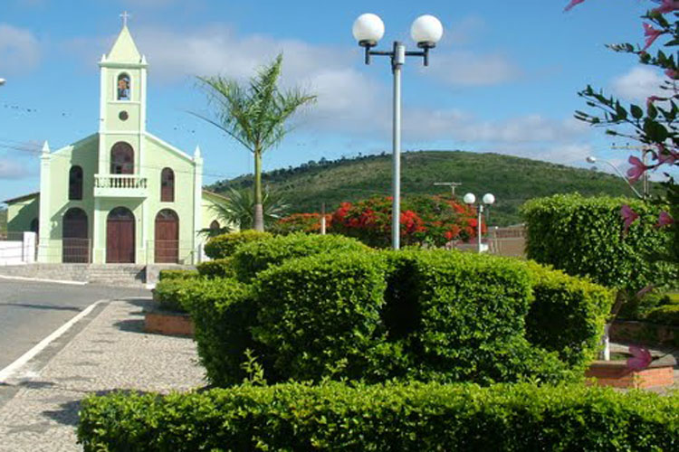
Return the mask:
<svg viewBox="0 0 679 452"><path fill-rule="evenodd" d="M339 235L294 233L244 245L234 254L234 268L237 278L247 282L252 280L258 272L270 266L280 265L287 259L343 251L368 252L369 250L358 240Z"/></svg>

